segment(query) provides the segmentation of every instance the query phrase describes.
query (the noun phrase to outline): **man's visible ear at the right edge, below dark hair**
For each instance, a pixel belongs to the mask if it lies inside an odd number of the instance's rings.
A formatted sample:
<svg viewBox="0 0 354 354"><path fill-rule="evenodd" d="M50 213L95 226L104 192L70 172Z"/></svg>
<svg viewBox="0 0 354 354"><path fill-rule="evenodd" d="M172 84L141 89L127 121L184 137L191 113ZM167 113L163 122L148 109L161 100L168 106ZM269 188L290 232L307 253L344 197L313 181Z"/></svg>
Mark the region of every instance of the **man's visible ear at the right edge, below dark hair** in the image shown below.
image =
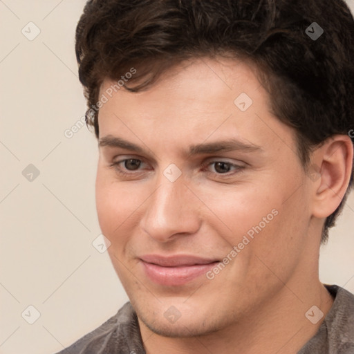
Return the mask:
<svg viewBox="0 0 354 354"><path fill-rule="evenodd" d="M353 143L346 135L335 135L313 152L313 216L326 218L342 201L353 170ZM312 174L312 176L314 176Z"/></svg>

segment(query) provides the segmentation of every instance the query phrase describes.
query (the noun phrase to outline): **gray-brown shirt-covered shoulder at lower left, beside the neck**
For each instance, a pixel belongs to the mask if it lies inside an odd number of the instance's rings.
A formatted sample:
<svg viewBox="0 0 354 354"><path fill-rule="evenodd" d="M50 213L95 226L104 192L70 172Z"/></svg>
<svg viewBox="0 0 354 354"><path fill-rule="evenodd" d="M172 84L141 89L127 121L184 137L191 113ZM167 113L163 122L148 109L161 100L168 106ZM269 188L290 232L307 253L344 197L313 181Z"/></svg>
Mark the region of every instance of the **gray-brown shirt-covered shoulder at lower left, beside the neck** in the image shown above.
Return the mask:
<svg viewBox="0 0 354 354"><path fill-rule="evenodd" d="M138 318L130 302L100 327L57 354L144 353Z"/></svg>

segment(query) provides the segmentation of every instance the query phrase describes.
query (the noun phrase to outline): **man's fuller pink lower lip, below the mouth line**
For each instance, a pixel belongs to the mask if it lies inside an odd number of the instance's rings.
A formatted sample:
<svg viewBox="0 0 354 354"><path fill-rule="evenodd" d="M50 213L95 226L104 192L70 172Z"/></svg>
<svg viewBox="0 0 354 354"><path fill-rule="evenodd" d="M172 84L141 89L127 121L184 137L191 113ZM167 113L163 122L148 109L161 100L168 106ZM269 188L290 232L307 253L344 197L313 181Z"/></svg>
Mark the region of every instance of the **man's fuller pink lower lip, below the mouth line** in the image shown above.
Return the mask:
<svg viewBox="0 0 354 354"><path fill-rule="evenodd" d="M208 264L162 267L142 261L147 276L155 283L164 286L180 286L206 274L218 262Z"/></svg>

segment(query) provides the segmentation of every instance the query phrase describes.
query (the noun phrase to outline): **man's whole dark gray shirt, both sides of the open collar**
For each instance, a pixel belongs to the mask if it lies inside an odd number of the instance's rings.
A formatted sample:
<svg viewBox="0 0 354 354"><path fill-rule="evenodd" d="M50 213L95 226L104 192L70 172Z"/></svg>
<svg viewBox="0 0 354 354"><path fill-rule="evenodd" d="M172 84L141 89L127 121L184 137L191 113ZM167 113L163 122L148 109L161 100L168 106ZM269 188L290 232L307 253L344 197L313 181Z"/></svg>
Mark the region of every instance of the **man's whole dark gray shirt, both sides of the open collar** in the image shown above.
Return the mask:
<svg viewBox="0 0 354 354"><path fill-rule="evenodd" d="M326 286L334 298L324 322L297 354L354 354L354 295ZM130 302L100 327L57 354L145 354Z"/></svg>

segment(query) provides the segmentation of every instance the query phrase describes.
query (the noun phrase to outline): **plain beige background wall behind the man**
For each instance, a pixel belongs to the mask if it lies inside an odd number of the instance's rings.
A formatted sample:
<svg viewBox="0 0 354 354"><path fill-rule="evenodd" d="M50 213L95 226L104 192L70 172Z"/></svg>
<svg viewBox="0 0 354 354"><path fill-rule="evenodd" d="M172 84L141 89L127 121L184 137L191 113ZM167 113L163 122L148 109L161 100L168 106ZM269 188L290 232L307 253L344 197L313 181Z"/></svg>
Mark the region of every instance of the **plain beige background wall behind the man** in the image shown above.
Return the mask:
<svg viewBox="0 0 354 354"><path fill-rule="evenodd" d="M1 354L55 353L127 301L108 255L92 245L95 138L86 127L64 135L85 110L74 54L84 3L0 0ZM21 32L36 34L30 21L40 30L32 41ZM39 170L32 181L22 174L30 164ZM351 194L320 259L322 281L352 292L353 217Z"/></svg>

